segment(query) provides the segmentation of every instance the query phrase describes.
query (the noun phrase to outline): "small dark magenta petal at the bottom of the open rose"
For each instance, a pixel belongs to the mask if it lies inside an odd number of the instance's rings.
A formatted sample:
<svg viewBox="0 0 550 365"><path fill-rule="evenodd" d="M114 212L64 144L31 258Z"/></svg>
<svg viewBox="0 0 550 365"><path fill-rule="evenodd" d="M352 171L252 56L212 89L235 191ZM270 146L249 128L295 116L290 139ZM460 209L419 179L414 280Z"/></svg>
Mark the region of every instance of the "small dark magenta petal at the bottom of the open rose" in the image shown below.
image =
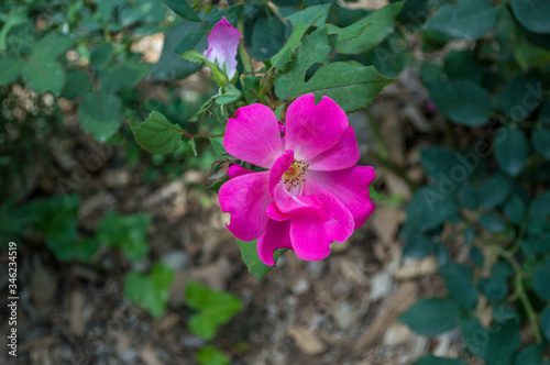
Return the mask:
<svg viewBox="0 0 550 365"><path fill-rule="evenodd" d="M257 239L257 254L260 259L268 266L275 265L273 254L277 248L292 248L290 222L277 222L270 220L265 231Z"/></svg>

